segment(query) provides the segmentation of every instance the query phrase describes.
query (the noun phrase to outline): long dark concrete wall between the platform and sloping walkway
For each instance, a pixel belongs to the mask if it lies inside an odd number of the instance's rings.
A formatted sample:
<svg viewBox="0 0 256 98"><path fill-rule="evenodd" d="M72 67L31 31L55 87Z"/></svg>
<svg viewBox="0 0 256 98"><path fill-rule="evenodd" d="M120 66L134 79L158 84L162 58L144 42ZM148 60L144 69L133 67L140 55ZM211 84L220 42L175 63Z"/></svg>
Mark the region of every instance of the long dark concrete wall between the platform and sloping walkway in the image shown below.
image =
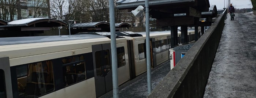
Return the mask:
<svg viewBox="0 0 256 98"><path fill-rule="evenodd" d="M148 98L202 98L227 11L221 14Z"/></svg>

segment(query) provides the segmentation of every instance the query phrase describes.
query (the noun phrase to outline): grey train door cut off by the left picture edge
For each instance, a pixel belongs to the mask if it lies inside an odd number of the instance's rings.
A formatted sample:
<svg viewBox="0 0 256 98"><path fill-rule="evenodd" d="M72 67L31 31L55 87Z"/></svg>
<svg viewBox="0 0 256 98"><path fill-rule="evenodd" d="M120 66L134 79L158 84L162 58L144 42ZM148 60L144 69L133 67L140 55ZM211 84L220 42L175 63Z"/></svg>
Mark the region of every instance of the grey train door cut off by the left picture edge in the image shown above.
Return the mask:
<svg viewBox="0 0 256 98"><path fill-rule="evenodd" d="M0 98L12 98L9 57L0 58Z"/></svg>

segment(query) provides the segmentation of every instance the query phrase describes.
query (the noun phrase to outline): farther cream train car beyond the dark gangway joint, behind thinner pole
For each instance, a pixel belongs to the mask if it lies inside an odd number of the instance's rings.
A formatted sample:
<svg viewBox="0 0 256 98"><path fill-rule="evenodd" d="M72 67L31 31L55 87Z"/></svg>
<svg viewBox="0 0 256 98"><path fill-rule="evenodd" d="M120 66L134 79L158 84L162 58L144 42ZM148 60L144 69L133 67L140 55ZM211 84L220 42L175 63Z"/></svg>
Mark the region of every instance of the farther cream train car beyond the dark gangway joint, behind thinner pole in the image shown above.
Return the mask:
<svg viewBox="0 0 256 98"><path fill-rule="evenodd" d="M131 79L146 72L146 33L127 31L116 34L125 37L127 44L129 44ZM170 38L170 31L150 32L151 68L155 68L169 59Z"/></svg>

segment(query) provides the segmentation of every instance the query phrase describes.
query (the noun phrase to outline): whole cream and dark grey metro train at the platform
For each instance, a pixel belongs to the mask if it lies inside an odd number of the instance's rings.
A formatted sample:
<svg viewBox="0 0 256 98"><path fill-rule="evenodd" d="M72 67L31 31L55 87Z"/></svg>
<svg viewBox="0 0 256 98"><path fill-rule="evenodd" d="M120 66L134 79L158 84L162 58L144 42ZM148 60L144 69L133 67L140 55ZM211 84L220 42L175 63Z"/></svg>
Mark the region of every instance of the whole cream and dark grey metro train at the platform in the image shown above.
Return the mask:
<svg viewBox="0 0 256 98"><path fill-rule="evenodd" d="M146 72L145 33L116 32L119 86ZM110 33L0 38L0 98L96 98L112 90ZM150 33L151 68L170 31Z"/></svg>

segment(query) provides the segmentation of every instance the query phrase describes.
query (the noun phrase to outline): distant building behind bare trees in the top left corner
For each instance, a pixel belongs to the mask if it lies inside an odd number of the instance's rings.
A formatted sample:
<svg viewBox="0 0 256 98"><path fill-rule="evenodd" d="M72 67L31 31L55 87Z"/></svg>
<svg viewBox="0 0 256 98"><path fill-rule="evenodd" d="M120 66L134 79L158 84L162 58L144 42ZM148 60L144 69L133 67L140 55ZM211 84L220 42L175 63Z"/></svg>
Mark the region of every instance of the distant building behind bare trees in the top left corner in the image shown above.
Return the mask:
<svg viewBox="0 0 256 98"><path fill-rule="evenodd" d="M10 4L8 1L14 1L14 3ZM6 6L0 8L0 19L12 21L27 18L48 18L50 15L47 13L49 10L47 1L49 2L49 0L0 0L0 5ZM19 14L20 18L18 18Z"/></svg>

